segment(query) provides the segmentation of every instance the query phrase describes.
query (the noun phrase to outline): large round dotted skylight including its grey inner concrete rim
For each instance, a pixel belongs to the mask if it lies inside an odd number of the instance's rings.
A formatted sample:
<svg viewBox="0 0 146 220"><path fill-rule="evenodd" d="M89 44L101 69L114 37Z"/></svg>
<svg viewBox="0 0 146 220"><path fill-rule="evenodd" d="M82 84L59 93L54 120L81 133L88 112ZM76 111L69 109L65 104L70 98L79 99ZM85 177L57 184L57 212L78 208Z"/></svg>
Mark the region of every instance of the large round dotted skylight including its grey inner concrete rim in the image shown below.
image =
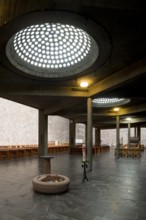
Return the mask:
<svg viewBox="0 0 146 220"><path fill-rule="evenodd" d="M78 74L98 58L95 40L83 29L61 23L28 26L8 41L6 54L18 69L57 78Z"/></svg>

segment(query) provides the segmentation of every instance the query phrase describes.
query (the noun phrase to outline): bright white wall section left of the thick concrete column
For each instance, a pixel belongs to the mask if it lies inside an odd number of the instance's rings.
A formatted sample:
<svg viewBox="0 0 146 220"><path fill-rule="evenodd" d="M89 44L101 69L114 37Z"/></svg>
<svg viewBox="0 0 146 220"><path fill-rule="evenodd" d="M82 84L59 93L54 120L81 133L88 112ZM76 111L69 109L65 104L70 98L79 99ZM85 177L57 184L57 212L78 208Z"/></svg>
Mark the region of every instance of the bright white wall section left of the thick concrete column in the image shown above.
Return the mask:
<svg viewBox="0 0 146 220"><path fill-rule="evenodd" d="M0 98L0 145L37 143L38 111Z"/></svg>

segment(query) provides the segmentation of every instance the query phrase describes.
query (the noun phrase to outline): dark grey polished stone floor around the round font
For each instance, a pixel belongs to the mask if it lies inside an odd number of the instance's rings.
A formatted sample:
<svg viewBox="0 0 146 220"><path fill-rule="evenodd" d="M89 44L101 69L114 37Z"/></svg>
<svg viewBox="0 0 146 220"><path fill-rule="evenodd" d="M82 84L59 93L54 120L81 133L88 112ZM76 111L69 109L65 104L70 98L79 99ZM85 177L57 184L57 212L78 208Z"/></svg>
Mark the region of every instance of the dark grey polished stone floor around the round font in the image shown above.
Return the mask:
<svg viewBox="0 0 146 220"><path fill-rule="evenodd" d="M146 152L140 159L115 159L112 150L95 155L84 183L81 156L54 156L52 173L71 179L59 195L33 190L42 159L0 162L0 220L146 220Z"/></svg>

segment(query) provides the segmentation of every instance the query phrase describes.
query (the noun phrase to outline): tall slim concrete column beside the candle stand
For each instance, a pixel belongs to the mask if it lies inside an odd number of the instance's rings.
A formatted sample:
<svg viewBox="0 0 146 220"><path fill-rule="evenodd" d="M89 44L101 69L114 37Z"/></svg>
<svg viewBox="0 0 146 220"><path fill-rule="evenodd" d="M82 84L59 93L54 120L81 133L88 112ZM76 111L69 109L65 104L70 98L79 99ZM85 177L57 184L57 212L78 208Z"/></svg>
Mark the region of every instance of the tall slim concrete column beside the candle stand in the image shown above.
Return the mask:
<svg viewBox="0 0 146 220"><path fill-rule="evenodd" d="M87 160L88 171L92 171L92 99L87 99Z"/></svg>

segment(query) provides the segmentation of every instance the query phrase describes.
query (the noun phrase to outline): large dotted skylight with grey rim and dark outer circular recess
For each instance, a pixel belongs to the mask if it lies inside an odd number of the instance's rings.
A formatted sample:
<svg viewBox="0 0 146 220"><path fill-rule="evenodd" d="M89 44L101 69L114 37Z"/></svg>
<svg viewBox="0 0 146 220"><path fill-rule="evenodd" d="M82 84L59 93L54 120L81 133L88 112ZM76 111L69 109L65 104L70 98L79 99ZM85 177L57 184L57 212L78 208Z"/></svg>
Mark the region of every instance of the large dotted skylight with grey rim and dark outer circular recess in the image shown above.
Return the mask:
<svg viewBox="0 0 146 220"><path fill-rule="evenodd" d="M111 52L105 30L77 14L37 12L13 22L6 57L16 70L29 76L64 79L84 75L101 66Z"/></svg>

